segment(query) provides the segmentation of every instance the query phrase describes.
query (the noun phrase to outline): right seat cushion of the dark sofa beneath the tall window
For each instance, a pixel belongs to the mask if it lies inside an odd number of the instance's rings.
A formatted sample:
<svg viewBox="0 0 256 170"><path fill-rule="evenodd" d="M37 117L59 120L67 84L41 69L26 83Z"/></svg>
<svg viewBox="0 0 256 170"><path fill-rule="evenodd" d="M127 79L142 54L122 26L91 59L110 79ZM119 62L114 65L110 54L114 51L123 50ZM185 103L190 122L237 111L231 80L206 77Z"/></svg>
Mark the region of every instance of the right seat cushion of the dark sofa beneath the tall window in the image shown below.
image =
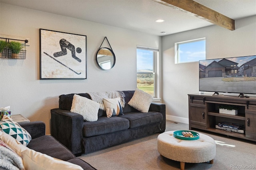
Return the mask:
<svg viewBox="0 0 256 170"><path fill-rule="evenodd" d="M148 125L151 123L163 121L163 116L159 112L131 112L120 116L122 118L128 119L130 122L130 128L136 128L143 125Z"/></svg>

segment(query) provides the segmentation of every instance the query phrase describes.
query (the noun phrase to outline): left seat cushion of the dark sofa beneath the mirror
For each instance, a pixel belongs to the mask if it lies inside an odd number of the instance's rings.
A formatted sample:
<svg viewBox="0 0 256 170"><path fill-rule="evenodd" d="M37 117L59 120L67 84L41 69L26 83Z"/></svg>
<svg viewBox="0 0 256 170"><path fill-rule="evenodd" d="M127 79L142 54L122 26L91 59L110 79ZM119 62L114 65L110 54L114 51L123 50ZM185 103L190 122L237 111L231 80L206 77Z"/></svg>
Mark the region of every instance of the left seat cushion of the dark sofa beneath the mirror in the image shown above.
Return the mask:
<svg viewBox="0 0 256 170"><path fill-rule="evenodd" d="M129 121L121 117L99 117L95 122L84 122L83 136L90 137L125 130L129 128Z"/></svg>

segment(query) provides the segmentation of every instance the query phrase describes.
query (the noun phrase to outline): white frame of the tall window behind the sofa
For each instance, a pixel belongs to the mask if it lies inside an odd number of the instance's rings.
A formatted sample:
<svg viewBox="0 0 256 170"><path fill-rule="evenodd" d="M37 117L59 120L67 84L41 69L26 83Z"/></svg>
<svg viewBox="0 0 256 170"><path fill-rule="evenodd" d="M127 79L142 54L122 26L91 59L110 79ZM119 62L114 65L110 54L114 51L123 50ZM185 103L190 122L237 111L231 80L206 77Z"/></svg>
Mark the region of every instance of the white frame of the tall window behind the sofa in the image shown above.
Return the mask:
<svg viewBox="0 0 256 170"><path fill-rule="evenodd" d="M153 51L153 71L152 72L141 72L141 71L136 71L136 77L138 74L153 74L154 75L154 98L157 98L158 94L157 94L157 87L159 84L156 80L157 80L157 62L158 62L158 58L159 58L159 48L154 48L154 47L145 47L145 46L141 46L141 45L137 45L136 48L136 57L137 57L137 49L143 49L143 50L148 50L148 51ZM136 64L136 70L137 70L137 64ZM137 86L137 84L136 84Z"/></svg>

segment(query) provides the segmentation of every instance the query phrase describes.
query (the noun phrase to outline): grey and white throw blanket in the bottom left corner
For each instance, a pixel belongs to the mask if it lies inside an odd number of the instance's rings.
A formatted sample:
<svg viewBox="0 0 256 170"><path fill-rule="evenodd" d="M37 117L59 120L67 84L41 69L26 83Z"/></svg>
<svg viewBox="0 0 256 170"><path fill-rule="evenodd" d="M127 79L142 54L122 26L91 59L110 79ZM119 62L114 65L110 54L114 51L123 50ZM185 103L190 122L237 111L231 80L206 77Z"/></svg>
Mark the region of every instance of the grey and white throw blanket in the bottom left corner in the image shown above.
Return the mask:
<svg viewBox="0 0 256 170"><path fill-rule="evenodd" d="M0 169L25 170L20 156L4 146L0 146Z"/></svg>

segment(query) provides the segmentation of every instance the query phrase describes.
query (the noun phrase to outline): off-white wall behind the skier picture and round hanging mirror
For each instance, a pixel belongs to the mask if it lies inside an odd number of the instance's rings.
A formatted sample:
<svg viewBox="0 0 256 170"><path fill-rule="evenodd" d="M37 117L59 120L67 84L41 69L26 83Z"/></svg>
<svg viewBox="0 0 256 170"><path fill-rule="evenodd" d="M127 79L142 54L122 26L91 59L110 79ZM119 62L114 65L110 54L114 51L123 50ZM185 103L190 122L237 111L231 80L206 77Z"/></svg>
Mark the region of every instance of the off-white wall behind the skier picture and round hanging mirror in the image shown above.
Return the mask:
<svg viewBox="0 0 256 170"><path fill-rule="evenodd" d="M39 29L87 36L87 79L40 80ZM26 59L0 58L0 107L13 114L46 123L50 134L50 109L58 96L68 93L136 89L136 45L160 47L161 37L122 28L0 3L0 34L30 38ZM116 55L116 65L102 71L95 55L104 37Z"/></svg>

